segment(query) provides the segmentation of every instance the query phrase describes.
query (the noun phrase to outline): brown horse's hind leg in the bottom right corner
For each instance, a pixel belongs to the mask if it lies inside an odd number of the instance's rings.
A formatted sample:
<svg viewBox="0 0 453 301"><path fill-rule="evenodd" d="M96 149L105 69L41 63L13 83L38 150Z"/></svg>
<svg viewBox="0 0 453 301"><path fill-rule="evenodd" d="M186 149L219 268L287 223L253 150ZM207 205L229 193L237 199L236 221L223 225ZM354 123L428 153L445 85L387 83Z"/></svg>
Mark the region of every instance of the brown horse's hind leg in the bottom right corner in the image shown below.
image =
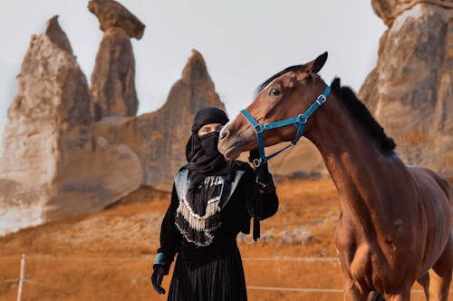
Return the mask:
<svg viewBox="0 0 453 301"><path fill-rule="evenodd" d="M453 268L453 238L450 235L447 247L436 264L429 270L429 301L447 301Z"/></svg>

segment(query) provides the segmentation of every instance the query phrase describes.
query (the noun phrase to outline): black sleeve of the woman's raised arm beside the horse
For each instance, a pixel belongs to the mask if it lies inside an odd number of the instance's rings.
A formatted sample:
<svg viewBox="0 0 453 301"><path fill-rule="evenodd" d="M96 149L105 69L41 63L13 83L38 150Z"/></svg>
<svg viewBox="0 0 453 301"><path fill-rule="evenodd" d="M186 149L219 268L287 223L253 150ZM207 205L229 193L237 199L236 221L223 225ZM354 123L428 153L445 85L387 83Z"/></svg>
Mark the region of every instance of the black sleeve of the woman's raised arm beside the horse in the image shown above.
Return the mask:
<svg viewBox="0 0 453 301"><path fill-rule="evenodd" d="M250 166L247 166L244 178L248 214L256 220L272 217L278 209L275 189L269 193L262 192L256 183L255 170Z"/></svg>

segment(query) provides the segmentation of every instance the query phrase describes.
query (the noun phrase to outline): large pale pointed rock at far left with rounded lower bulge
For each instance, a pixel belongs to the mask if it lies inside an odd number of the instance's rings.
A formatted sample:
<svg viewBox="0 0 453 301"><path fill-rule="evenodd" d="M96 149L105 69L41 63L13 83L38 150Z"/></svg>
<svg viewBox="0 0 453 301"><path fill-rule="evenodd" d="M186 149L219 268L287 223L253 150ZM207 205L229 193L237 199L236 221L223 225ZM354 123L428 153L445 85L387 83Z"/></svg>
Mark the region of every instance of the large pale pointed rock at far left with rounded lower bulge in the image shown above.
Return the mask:
<svg viewBox="0 0 453 301"><path fill-rule="evenodd" d="M104 208L140 187L137 155L92 131L88 85L53 17L32 36L0 158L0 235Z"/></svg>

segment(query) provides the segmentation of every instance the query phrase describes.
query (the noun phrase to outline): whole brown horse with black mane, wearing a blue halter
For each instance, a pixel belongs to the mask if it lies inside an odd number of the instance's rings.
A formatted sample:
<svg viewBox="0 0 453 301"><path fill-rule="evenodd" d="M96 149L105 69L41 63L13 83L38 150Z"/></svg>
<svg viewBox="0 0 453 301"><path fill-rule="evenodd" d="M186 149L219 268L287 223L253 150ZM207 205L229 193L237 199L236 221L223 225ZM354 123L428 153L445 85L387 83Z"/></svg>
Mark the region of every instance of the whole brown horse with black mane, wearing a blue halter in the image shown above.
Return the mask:
<svg viewBox="0 0 453 301"><path fill-rule="evenodd" d="M275 74L246 108L256 123L293 118L319 100L317 75L327 53ZM447 300L453 267L452 190L435 172L405 165L395 144L348 87L335 79L326 102L305 124L340 195L334 240L344 275L344 299L410 300L416 280L429 300ZM318 102L318 101L316 101ZM401 116L404 118L404 116ZM218 150L236 159L256 150L254 126L240 114L220 133ZM294 141L286 125L263 133L265 146ZM295 163L295 162L294 162Z"/></svg>

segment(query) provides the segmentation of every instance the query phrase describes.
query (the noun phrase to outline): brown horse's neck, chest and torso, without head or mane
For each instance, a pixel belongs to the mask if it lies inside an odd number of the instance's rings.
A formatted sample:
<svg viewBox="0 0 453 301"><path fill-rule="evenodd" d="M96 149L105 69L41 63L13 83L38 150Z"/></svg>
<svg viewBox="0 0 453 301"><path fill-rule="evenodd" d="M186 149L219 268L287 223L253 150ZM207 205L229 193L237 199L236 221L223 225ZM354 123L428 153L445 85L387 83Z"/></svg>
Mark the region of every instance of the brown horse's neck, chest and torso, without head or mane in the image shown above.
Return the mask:
<svg viewBox="0 0 453 301"><path fill-rule="evenodd" d="M408 168L395 153L382 153L352 120L332 116L348 112L331 97L306 136L323 155L342 203L334 240L347 276L344 289L352 299L371 290L407 294L445 249L450 197L434 172Z"/></svg>

